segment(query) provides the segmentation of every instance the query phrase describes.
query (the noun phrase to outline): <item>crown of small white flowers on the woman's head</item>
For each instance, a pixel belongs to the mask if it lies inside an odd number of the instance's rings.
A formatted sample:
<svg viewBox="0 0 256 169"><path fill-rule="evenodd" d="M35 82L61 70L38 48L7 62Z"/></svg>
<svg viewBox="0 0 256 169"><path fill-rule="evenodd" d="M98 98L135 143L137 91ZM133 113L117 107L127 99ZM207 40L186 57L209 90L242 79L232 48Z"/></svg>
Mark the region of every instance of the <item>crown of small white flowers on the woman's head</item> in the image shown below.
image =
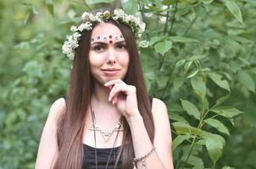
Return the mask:
<svg viewBox="0 0 256 169"><path fill-rule="evenodd" d="M110 14L108 10L103 13L98 12L95 16L85 12L81 15L81 19L86 22L81 23L79 26L71 26L70 30L74 33L67 37L68 40L65 41L62 46L62 52L71 60L75 57L75 48L79 46L78 42L81 40L81 32L84 30L92 30L92 23L96 21L104 22L108 19L114 19L115 21L128 25L131 27L132 32L137 36L137 45L139 47L148 46L147 41L142 41L140 39L145 30L145 24L139 18L130 14L125 14L120 8L114 9L114 14Z"/></svg>

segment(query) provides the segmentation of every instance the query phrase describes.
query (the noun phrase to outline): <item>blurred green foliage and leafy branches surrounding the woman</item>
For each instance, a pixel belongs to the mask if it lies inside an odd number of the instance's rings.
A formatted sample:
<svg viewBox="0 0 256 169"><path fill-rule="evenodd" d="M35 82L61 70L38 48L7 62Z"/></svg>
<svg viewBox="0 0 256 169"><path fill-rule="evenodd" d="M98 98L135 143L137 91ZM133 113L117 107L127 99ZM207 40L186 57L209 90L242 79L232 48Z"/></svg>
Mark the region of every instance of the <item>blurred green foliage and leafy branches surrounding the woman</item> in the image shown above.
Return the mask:
<svg viewBox="0 0 256 169"><path fill-rule="evenodd" d="M69 89L61 46L81 14L147 24L147 90L168 106L175 168L256 168L256 1L2 0L0 169L34 168L49 107Z"/></svg>

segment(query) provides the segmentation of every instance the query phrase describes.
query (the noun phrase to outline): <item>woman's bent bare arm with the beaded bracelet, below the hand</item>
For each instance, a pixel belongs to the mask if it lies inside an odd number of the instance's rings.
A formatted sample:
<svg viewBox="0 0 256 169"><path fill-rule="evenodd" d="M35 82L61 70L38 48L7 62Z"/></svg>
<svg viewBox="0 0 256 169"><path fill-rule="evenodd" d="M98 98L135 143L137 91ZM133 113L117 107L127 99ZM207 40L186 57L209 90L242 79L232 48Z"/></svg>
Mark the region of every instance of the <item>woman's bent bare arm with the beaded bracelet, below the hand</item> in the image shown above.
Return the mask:
<svg viewBox="0 0 256 169"><path fill-rule="evenodd" d="M156 150L145 159L147 169L173 169L170 122L164 102L154 98L152 112L155 126L153 144L149 139L142 117L131 117L127 119L131 128L135 155L136 157L146 155L154 146ZM142 162L137 162L137 168L143 168Z"/></svg>

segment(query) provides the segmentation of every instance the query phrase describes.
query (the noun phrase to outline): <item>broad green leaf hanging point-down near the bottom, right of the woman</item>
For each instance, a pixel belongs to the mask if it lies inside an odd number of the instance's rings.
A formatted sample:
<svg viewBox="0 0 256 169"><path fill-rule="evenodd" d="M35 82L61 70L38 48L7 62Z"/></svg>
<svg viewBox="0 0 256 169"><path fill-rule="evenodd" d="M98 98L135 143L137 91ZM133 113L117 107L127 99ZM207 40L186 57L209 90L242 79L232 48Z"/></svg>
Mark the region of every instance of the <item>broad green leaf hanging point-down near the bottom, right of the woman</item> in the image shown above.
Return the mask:
<svg viewBox="0 0 256 169"><path fill-rule="evenodd" d="M206 149L208 150L209 156L215 165L222 155L225 139L217 134L207 134L204 137L206 139Z"/></svg>

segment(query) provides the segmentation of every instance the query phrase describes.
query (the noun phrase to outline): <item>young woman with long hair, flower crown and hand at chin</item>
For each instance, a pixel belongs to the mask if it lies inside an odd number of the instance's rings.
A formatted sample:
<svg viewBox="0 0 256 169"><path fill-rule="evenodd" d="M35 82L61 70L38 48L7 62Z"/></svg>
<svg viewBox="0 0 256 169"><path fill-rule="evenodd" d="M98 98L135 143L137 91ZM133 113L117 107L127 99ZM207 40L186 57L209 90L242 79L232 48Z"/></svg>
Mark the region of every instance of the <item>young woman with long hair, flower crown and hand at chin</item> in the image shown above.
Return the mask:
<svg viewBox="0 0 256 169"><path fill-rule="evenodd" d="M70 93L50 109L36 169L173 168L168 112L147 94L136 49L142 22L97 11L71 30Z"/></svg>

